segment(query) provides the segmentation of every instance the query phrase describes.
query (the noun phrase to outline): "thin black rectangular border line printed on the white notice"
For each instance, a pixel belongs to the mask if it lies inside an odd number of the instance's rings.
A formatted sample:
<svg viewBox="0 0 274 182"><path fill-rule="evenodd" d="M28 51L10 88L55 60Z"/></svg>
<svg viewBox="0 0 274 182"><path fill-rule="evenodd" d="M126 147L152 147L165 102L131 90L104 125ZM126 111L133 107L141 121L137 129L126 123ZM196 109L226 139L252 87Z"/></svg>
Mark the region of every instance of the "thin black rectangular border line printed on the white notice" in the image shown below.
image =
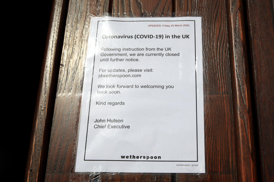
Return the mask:
<svg viewBox="0 0 274 182"><path fill-rule="evenodd" d="M119 20L100 20L100 21L119 21ZM96 30L96 39L95 39L95 49L97 43L97 33L98 33L98 23L97 21L97 30ZM159 20L161 21L161 20ZM194 21L194 44L195 44L195 65L196 65L196 27L195 27L195 20L174 20L174 21ZM139 21L122 21L122 22L139 22ZM149 21L150 22L150 21ZM93 73L94 73L94 64L95 64L95 53L93 58L93 70L92 70L92 79L91 79L91 91L90 91L90 99L89 99L89 112L90 112L90 104L91 104L91 93L92 93L92 84L93 84ZM197 126L197 72L195 69L195 89L196 89L196 144L197 144L197 161L155 161L155 160L90 160L85 159L86 156L86 148L87 148L87 134L86 134L86 142L85 142L85 154L84 154L84 161L147 161L147 162L198 162L198 126ZM87 133L89 127L89 115L87 120Z"/></svg>

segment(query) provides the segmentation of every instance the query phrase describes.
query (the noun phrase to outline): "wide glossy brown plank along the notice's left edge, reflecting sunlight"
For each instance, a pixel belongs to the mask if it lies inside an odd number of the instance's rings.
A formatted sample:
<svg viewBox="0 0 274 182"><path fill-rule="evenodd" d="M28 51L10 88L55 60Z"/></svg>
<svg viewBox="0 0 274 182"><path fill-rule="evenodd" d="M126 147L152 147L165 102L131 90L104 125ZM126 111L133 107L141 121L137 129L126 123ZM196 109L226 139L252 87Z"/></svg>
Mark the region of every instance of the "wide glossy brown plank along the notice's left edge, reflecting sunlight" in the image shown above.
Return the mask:
<svg viewBox="0 0 274 182"><path fill-rule="evenodd" d="M102 5L91 1L89 11L89 1L69 1L45 181L90 181L74 173L75 150L90 15L100 16Z"/></svg>

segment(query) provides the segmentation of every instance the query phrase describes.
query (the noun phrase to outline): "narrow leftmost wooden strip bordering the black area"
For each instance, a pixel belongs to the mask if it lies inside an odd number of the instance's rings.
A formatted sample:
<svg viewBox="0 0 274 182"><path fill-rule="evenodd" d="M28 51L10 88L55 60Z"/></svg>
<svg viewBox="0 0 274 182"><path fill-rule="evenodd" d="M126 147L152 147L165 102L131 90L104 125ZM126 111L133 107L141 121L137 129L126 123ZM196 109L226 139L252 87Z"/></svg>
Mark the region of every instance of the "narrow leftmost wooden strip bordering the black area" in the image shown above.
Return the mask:
<svg viewBox="0 0 274 182"><path fill-rule="evenodd" d="M67 1L53 1L24 181L44 181Z"/></svg>

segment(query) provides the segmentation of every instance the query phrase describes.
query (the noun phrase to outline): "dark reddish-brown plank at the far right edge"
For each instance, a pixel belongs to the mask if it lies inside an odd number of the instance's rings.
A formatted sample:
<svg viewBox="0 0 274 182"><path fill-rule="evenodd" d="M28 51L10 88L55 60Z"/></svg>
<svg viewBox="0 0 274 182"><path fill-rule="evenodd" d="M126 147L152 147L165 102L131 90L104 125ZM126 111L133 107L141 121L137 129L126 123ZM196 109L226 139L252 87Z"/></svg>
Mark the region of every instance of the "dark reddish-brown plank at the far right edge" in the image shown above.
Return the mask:
<svg viewBox="0 0 274 182"><path fill-rule="evenodd" d="M247 0L251 69L263 181L274 181L274 1Z"/></svg>

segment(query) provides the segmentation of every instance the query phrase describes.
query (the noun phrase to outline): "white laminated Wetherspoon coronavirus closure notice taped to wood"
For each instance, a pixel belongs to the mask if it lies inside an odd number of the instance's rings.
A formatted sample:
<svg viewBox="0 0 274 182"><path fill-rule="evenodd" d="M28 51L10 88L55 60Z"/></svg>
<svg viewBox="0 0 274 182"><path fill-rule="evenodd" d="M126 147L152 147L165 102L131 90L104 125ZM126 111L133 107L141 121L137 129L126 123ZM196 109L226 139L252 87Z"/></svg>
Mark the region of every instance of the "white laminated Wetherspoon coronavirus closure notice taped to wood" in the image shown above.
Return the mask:
<svg viewBox="0 0 274 182"><path fill-rule="evenodd" d="M205 173L201 17L92 18L75 172Z"/></svg>

